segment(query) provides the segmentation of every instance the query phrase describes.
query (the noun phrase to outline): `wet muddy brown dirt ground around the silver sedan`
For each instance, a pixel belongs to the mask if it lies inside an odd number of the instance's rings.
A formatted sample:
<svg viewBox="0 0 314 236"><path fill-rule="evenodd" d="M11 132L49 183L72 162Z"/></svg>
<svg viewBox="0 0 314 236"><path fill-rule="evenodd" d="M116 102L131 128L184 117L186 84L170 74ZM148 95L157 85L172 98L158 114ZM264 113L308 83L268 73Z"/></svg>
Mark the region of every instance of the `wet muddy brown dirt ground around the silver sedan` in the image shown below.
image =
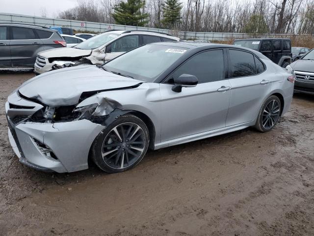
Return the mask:
<svg viewBox="0 0 314 236"><path fill-rule="evenodd" d="M0 235L313 236L314 96L253 128L150 151L131 171L19 163L4 103L31 73L0 75Z"/></svg>

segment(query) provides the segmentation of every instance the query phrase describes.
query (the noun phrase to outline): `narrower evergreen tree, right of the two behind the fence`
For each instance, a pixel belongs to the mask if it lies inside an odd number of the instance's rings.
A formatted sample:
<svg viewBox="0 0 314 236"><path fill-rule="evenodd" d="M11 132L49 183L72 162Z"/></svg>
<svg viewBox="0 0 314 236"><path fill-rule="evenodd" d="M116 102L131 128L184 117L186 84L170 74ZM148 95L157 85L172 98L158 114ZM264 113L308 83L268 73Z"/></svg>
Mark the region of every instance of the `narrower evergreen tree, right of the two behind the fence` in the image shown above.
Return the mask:
<svg viewBox="0 0 314 236"><path fill-rule="evenodd" d="M165 27L171 27L181 20L182 2L166 0L163 6L163 21Z"/></svg>

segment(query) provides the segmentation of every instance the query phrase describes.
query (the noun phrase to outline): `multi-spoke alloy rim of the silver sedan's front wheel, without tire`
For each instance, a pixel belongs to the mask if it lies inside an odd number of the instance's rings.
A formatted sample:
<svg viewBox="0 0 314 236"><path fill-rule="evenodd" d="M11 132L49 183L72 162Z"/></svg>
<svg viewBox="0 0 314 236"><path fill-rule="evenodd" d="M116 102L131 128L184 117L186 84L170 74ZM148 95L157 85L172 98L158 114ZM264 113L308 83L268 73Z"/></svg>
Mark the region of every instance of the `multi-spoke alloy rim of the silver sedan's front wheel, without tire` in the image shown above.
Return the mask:
<svg viewBox="0 0 314 236"><path fill-rule="evenodd" d="M135 123L123 123L112 128L102 146L104 162L114 169L132 165L145 148L143 129Z"/></svg>

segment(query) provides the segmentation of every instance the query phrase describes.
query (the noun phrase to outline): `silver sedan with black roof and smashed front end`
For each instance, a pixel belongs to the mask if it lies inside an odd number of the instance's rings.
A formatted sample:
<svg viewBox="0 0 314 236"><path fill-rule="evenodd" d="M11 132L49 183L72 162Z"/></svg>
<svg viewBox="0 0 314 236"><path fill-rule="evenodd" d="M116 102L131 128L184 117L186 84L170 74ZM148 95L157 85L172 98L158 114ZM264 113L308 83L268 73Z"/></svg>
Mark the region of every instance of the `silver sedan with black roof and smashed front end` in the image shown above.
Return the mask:
<svg viewBox="0 0 314 236"><path fill-rule="evenodd" d="M108 173L159 149L255 126L290 107L294 77L261 53L231 45L161 42L102 66L26 81L5 104L20 161L55 172Z"/></svg>

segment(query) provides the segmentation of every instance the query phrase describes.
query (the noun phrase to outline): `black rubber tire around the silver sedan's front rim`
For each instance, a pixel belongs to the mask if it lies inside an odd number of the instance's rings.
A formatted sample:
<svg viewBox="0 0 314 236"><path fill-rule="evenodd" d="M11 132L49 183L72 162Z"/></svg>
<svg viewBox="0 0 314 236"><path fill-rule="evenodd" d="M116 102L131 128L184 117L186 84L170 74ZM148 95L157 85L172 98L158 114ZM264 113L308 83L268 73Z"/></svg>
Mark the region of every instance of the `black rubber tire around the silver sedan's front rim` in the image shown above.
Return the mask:
<svg viewBox="0 0 314 236"><path fill-rule="evenodd" d="M137 125L139 125L142 130L144 131L145 134L145 147L144 150L141 154L141 156L129 167L124 168L124 169L114 169L111 168L110 166L108 166L105 161L103 160L102 157L102 146L103 146L103 142L105 137L107 136L107 134L111 131L112 128L114 128L115 126L122 124L122 123L135 123ZM146 124L138 117L132 115L132 114L126 114L123 116L120 116L119 118L117 118L115 121L113 121L111 124L109 124L94 140L93 145L91 147L91 157L92 160L94 161L94 163L103 171L107 172L107 173L119 173L119 172L124 172L127 170L130 170L131 168L135 167L145 156L147 149L149 147L149 131L148 128L146 126Z"/></svg>

